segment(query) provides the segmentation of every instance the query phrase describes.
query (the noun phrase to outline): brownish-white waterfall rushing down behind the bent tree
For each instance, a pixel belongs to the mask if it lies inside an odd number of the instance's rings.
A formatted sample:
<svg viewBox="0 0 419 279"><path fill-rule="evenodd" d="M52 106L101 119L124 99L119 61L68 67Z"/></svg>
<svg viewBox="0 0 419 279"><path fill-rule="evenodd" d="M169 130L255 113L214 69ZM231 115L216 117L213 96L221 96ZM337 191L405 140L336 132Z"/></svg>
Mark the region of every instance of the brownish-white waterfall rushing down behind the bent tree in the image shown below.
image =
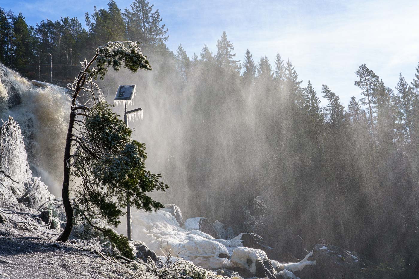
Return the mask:
<svg viewBox="0 0 419 279"><path fill-rule="evenodd" d="M12 116L19 123L31 170L57 196L69 112L70 99L64 89L35 86L0 64L0 118L6 121Z"/></svg>

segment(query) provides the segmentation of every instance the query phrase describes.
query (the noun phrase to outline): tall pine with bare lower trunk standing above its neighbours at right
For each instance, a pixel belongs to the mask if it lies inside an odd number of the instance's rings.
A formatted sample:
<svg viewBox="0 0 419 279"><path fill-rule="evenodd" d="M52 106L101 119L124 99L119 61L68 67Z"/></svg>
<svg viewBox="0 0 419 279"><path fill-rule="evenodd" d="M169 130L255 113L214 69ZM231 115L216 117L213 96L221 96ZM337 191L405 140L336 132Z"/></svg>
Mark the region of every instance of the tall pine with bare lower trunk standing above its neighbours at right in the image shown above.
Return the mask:
<svg viewBox="0 0 419 279"><path fill-rule="evenodd" d="M372 114L372 108L376 104L375 96L373 95L374 85L378 80L378 76L370 69L367 68L365 64L362 64L358 71L355 72L359 80L355 81L355 85L360 87L362 91L362 95L365 97L360 99L360 102L363 105L368 105L369 113L370 113L370 123L371 123L371 130L372 136L375 138L375 131L374 131L374 118Z"/></svg>

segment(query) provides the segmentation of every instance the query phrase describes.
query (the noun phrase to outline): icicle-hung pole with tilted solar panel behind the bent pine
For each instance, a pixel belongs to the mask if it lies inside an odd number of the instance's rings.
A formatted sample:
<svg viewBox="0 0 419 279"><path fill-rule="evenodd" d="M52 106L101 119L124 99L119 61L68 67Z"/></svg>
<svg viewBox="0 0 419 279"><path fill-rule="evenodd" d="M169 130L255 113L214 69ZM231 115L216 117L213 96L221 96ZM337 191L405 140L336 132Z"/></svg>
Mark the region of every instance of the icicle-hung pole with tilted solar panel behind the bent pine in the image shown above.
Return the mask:
<svg viewBox="0 0 419 279"><path fill-rule="evenodd" d="M124 121L125 125L128 127L128 120L142 120L142 108L136 108L134 110L127 111L127 102L128 105L132 105L135 97L135 84L130 85L119 85L118 90L116 90L115 95L115 105L119 105L124 102ZM131 208L129 206L129 195L127 193L127 238L131 238Z"/></svg>

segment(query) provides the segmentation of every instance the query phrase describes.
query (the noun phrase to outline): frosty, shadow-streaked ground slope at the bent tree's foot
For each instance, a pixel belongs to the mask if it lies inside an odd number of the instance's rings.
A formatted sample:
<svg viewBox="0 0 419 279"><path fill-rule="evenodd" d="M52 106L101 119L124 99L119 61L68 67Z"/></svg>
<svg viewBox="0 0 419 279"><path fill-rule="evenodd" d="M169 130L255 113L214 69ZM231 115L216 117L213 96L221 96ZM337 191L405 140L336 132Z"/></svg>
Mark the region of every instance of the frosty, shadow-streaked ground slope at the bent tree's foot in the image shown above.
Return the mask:
<svg viewBox="0 0 419 279"><path fill-rule="evenodd" d="M104 259L85 246L54 241L58 231L43 225L36 210L0 200L0 278L157 278L137 262ZM16 212L6 214L4 212ZM92 245L90 245L92 246Z"/></svg>

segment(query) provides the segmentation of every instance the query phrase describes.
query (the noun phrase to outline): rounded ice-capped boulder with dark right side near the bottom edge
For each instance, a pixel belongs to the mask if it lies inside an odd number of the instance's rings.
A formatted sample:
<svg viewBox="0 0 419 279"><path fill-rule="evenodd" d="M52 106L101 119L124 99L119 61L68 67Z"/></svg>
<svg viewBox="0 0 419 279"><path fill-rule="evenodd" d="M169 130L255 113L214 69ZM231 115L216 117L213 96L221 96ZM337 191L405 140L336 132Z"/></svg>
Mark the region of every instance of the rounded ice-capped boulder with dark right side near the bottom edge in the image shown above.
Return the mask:
<svg viewBox="0 0 419 279"><path fill-rule="evenodd" d="M275 278L274 268L262 250L248 247L238 247L231 256L232 267L249 270L256 277Z"/></svg>

